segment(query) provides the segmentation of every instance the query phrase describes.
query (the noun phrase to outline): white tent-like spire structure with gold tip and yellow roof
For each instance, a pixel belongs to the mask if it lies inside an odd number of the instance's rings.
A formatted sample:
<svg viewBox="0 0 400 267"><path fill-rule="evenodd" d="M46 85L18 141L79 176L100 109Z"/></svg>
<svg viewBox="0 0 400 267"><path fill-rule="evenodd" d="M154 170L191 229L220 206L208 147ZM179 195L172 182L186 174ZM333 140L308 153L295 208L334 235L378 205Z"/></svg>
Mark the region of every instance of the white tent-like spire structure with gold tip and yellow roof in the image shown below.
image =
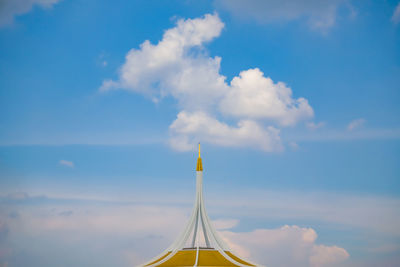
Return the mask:
<svg viewBox="0 0 400 267"><path fill-rule="evenodd" d="M234 255L211 225L203 201L200 144L196 168L196 201L192 215L179 238L158 257L142 265L156 266L259 266Z"/></svg>

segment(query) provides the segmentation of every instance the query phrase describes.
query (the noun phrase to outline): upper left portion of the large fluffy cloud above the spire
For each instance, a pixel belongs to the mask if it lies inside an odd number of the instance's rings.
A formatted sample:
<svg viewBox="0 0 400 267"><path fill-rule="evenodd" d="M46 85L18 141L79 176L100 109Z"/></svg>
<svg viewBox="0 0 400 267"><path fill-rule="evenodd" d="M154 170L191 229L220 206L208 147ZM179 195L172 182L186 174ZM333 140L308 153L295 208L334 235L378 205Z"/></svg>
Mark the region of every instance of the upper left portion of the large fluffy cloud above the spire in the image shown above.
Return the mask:
<svg viewBox="0 0 400 267"><path fill-rule="evenodd" d="M172 95L185 109L204 109L224 94L225 77L219 74L219 57L198 50L220 35L224 24L217 15L179 20L153 45L145 41L132 49L120 70L119 82L106 80L100 90L123 88L158 99Z"/></svg>

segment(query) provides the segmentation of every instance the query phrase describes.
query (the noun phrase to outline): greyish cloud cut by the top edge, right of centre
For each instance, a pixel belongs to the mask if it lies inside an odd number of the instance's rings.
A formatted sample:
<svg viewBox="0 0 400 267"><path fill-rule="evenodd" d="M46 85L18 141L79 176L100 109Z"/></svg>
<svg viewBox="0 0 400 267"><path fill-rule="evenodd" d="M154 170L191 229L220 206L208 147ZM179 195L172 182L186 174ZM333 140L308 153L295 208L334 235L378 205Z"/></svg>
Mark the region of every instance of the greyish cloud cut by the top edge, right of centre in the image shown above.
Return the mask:
<svg viewBox="0 0 400 267"><path fill-rule="evenodd" d="M326 31L336 22L337 9L346 0L216 0L218 7L240 18L254 19L260 23L287 22L306 18L310 28Z"/></svg>

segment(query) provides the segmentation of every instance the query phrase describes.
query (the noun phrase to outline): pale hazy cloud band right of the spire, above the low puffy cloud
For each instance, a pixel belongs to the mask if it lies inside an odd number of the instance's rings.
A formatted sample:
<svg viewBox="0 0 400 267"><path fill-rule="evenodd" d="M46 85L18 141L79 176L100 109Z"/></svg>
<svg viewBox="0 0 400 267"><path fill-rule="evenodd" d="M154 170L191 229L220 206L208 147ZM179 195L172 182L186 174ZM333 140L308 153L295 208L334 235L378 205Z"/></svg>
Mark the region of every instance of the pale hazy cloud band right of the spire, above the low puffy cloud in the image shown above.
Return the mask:
<svg viewBox="0 0 400 267"><path fill-rule="evenodd" d="M224 195L224 199L224 204L213 210L229 217L310 220L400 237L397 229L399 198L328 192L246 191L234 198ZM218 199L210 201L217 203ZM240 212L235 210L238 206L242 207Z"/></svg>

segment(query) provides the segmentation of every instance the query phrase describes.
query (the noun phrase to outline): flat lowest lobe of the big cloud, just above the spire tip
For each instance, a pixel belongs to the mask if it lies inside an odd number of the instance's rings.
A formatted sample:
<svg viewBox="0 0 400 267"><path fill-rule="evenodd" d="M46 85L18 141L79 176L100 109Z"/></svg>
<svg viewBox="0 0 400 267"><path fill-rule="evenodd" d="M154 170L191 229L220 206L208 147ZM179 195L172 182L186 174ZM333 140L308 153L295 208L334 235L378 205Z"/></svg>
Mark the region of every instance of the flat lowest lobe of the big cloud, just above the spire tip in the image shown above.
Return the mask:
<svg viewBox="0 0 400 267"><path fill-rule="evenodd" d="M237 127L231 127L203 112L182 111L171 124L170 131L170 144L182 151L192 150L199 141L229 147L249 146L264 151L282 150L278 129L272 126L264 129L251 120L241 120Z"/></svg>

